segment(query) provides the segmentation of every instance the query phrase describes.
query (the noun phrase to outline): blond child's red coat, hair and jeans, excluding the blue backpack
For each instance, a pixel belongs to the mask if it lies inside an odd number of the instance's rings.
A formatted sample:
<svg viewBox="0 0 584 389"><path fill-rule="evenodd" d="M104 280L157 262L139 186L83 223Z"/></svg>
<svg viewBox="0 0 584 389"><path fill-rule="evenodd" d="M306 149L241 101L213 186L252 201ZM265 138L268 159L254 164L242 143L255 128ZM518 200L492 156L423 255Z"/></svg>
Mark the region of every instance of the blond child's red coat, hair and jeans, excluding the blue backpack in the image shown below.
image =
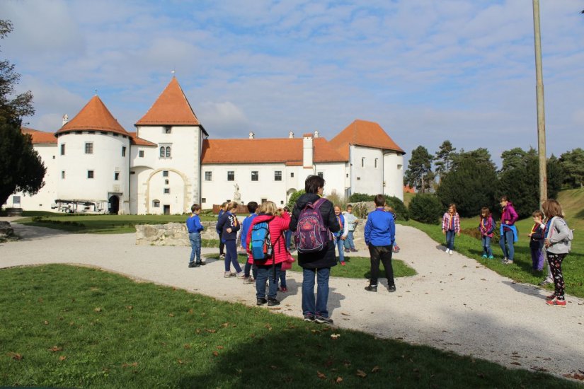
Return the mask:
<svg viewBox="0 0 584 389"><path fill-rule="evenodd" d="M251 232L253 226L262 222L268 223L270 231L270 240L272 242L272 257L263 261L254 261L251 249L248 247L249 261L255 263L258 267L258 277L256 277L256 297L258 298L258 306L268 303L268 306L278 306L280 301L277 301L277 279L280 278L280 269L282 262L287 260L286 238L284 231L290 226L290 215L282 210L277 209L273 202L265 202L261 204L259 214L251 222L248 231L247 241L251 242ZM275 264L275 276L273 269ZM268 298L265 298L265 281L270 279L270 289L268 290Z"/></svg>

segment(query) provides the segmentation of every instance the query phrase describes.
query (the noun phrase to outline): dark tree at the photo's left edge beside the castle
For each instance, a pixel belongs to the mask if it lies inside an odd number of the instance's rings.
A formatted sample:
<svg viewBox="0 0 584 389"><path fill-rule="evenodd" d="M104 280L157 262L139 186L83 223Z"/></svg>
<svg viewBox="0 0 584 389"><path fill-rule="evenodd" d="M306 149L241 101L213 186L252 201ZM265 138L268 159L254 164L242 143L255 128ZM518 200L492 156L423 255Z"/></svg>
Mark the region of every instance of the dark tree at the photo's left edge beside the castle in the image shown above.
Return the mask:
<svg viewBox="0 0 584 389"><path fill-rule="evenodd" d="M0 39L12 31L0 20ZM30 135L21 132L21 118L33 115L33 94L14 95L20 74L7 60L0 61L0 205L14 192L35 194L45 184L46 168L33 149Z"/></svg>

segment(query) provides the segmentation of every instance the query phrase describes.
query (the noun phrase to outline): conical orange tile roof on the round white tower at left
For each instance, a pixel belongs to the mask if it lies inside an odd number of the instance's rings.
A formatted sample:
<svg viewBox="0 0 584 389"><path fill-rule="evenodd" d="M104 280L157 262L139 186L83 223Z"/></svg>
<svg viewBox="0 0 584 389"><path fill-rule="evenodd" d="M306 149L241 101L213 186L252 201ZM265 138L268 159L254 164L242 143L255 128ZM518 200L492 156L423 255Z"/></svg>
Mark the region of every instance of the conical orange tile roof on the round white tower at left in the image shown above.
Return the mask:
<svg viewBox="0 0 584 389"><path fill-rule="evenodd" d="M103 101L98 95L93 96L89 103L81 108L81 111L69 122L65 123L55 134L62 134L69 131L110 131L117 134L127 135L124 127L115 120Z"/></svg>

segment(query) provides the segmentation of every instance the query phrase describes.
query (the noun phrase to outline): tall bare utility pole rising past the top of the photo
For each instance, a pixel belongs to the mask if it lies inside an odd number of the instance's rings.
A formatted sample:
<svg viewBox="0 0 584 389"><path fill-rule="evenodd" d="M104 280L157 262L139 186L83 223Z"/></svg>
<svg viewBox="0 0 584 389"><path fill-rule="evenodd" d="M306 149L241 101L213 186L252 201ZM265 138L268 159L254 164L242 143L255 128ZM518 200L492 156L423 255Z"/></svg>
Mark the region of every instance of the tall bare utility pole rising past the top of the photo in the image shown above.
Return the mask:
<svg viewBox="0 0 584 389"><path fill-rule="evenodd" d="M539 151L539 204L541 205L547 199L547 166L542 37L539 33L539 0L533 0L533 35L535 40L535 91L537 95L537 149Z"/></svg>

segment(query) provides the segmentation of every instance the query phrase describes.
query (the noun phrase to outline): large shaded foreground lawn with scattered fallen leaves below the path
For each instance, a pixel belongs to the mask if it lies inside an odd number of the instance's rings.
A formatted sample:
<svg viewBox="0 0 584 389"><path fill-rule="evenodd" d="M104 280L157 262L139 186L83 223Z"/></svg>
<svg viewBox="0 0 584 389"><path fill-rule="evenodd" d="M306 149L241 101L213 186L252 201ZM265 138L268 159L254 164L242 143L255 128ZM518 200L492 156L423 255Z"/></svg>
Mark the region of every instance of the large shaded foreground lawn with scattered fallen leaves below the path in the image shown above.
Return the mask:
<svg viewBox="0 0 584 389"><path fill-rule="evenodd" d="M98 269L2 269L0 289L5 386L578 388Z"/></svg>

